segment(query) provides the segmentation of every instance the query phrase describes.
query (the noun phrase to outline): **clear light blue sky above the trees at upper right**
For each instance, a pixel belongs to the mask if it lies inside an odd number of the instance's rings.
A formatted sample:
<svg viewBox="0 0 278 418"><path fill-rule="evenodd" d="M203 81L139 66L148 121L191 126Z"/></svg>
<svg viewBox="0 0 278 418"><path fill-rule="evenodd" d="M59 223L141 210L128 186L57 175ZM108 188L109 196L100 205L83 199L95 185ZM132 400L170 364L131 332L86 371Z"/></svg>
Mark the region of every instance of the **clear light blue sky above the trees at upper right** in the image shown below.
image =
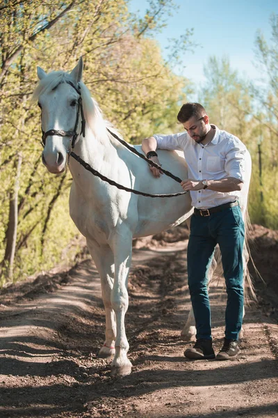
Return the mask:
<svg viewBox="0 0 278 418"><path fill-rule="evenodd" d="M144 15L147 0L129 0L129 10ZM186 68L183 75L197 85L203 84L203 68L209 56L228 56L231 67L240 75L258 79L260 74L252 65L256 31L261 30L270 40L270 15L278 13L277 0L176 0L179 10L167 20L167 28L158 33L163 54L167 38L179 37L186 29L194 29L193 41L200 45L191 52L181 53ZM178 72L178 69L177 69Z"/></svg>

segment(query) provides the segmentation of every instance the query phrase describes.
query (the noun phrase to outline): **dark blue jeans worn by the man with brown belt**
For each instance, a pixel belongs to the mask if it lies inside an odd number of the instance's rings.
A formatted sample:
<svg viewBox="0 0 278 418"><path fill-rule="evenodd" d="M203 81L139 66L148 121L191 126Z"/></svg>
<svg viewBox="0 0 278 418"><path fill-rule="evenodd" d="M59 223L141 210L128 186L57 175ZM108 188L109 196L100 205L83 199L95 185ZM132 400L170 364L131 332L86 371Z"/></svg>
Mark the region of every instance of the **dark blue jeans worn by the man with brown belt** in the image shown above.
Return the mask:
<svg viewBox="0 0 278 418"><path fill-rule="evenodd" d="M188 242L188 287L193 306L197 339L211 339L211 308L208 300L208 270L218 244L227 289L225 337L238 340L243 323L243 243L245 227L239 206L193 215Z"/></svg>

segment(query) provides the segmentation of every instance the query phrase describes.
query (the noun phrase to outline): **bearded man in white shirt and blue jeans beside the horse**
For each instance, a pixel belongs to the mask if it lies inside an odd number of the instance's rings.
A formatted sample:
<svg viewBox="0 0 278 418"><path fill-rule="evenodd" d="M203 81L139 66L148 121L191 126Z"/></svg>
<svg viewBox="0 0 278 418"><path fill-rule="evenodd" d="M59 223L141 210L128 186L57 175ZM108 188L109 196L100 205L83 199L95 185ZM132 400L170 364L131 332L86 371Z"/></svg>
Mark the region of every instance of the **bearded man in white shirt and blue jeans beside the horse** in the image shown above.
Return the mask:
<svg viewBox="0 0 278 418"><path fill-rule="evenodd" d="M245 180L245 145L234 135L209 123L204 107L186 103L177 116L186 132L155 134L142 141L148 158L160 164L156 148L183 150L194 214L188 242L188 287L196 322L196 343L185 351L188 359L213 359L211 311L208 300L208 269L215 246L222 255L227 288L224 344L216 359L232 359L240 353L238 334L243 321L244 222L238 206ZM161 172L150 167L152 174Z"/></svg>

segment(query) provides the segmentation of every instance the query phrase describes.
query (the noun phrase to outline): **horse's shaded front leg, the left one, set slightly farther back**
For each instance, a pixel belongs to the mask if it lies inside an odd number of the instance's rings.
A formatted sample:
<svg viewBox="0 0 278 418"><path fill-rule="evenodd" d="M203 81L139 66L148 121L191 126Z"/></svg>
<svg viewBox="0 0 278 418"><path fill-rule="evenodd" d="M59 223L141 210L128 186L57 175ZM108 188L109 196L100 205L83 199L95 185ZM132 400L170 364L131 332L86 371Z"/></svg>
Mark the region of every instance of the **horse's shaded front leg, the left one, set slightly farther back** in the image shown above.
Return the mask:
<svg viewBox="0 0 278 418"><path fill-rule="evenodd" d="M101 358L112 358L115 355L116 322L115 312L111 305L111 291L114 281L114 256L108 245L99 246L87 240L88 249L95 261L101 279L101 294L106 316L106 331L104 345L99 350Z"/></svg>

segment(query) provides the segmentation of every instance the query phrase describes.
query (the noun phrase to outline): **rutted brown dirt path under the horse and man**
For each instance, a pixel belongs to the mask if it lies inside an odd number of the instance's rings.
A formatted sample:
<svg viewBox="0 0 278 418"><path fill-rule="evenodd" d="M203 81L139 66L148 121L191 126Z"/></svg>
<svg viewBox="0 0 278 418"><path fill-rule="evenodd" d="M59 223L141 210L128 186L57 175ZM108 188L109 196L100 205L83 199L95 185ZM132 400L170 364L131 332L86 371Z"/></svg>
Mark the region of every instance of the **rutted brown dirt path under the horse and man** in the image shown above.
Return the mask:
<svg viewBox="0 0 278 418"><path fill-rule="evenodd" d="M134 249L126 315L133 372L97 358L104 311L97 271L38 277L0 295L0 417L248 418L278 416L278 325L268 302L247 308L238 359L190 362L179 338L190 303L186 241ZM215 348L225 293L211 289Z"/></svg>

